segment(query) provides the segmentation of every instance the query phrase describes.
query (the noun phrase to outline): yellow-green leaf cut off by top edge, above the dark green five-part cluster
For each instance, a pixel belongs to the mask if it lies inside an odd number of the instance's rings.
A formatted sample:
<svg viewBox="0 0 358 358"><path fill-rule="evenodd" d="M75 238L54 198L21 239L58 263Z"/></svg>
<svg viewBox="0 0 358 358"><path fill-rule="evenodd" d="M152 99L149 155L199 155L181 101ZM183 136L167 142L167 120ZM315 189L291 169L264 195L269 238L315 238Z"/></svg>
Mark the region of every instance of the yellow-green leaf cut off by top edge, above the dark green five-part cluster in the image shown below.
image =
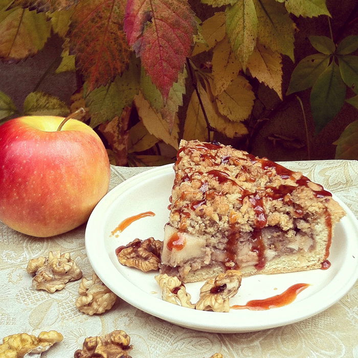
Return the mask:
<svg viewBox="0 0 358 358"><path fill-rule="evenodd" d="M326 0L287 0L285 2L285 7L288 12L294 14L295 16L330 16L326 6Z"/></svg>

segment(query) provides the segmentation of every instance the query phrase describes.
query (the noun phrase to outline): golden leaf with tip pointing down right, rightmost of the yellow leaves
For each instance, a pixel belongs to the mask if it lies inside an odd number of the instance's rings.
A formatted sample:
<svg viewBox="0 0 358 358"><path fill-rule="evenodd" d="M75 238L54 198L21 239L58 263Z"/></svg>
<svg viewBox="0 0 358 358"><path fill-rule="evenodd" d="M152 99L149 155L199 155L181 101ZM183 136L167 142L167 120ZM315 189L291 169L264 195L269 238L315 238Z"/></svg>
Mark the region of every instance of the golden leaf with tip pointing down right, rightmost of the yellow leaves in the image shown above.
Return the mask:
<svg viewBox="0 0 358 358"><path fill-rule="evenodd" d="M249 58L248 69L253 77L274 89L282 100L282 63L280 54L266 49L258 43Z"/></svg>

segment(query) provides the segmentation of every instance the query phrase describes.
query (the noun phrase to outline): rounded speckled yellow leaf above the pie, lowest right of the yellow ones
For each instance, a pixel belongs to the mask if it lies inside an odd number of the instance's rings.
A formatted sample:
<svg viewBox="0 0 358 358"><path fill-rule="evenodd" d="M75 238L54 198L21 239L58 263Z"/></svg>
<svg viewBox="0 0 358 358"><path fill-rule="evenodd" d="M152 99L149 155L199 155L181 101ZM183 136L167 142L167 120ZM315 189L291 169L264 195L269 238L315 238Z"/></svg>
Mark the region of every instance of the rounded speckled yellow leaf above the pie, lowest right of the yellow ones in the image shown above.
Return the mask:
<svg viewBox="0 0 358 358"><path fill-rule="evenodd" d="M219 112L231 121L247 119L254 106L255 95L247 79L237 76L225 91L216 96Z"/></svg>

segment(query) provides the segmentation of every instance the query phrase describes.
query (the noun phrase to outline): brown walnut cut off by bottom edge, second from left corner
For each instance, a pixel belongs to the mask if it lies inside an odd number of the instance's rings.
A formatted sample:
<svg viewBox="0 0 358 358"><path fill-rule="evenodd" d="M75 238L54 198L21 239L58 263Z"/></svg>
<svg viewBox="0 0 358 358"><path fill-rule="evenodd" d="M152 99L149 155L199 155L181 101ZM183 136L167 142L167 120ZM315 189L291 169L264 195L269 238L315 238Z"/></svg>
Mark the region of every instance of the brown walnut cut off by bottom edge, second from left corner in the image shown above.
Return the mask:
<svg viewBox="0 0 358 358"><path fill-rule="evenodd" d="M116 330L104 337L89 337L83 342L82 349L77 349L74 358L131 358L128 354L132 346L130 337L122 330Z"/></svg>

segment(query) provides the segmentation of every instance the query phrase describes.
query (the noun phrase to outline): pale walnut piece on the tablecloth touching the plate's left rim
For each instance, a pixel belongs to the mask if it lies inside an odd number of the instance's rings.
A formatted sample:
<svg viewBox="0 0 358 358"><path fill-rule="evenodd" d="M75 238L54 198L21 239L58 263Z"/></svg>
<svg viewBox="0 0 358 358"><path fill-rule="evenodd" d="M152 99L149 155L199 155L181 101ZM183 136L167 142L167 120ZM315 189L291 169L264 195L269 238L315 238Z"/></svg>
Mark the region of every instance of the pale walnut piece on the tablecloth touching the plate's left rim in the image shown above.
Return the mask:
<svg viewBox="0 0 358 358"><path fill-rule="evenodd" d="M91 280L82 278L78 289L79 297L76 307L87 315L101 314L111 309L117 300L117 296L104 285L96 274Z"/></svg>

